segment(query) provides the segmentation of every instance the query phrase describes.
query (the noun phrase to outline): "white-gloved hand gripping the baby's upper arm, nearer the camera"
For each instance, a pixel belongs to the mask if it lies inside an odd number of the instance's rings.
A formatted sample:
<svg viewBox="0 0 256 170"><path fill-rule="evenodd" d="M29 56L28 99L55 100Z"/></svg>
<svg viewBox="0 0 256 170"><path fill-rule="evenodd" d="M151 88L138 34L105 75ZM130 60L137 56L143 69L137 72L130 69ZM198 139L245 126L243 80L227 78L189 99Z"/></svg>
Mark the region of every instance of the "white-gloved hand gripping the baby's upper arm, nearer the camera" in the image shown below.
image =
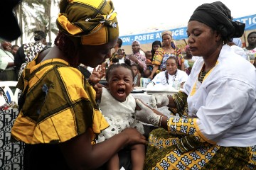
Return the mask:
<svg viewBox="0 0 256 170"><path fill-rule="evenodd" d="M137 120L158 127L161 115L157 115L156 113L154 113L154 111L152 111L151 108L144 105L144 103L142 103L142 101L139 101L139 99L136 99L136 103L139 106L139 108L141 108L141 110L135 111Z"/></svg>

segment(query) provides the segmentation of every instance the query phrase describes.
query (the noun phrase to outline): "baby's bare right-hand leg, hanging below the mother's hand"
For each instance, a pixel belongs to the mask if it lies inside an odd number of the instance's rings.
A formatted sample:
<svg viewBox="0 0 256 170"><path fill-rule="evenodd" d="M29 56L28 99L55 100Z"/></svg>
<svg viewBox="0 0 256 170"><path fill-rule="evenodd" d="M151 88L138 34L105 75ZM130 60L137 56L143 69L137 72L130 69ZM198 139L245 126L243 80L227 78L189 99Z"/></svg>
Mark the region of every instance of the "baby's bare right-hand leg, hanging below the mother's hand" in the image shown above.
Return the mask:
<svg viewBox="0 0 256 170"><path fill-rule="evenodd" d="M132 145L131 147L132 170L142 170L145 160L145 145Z"/></svg>

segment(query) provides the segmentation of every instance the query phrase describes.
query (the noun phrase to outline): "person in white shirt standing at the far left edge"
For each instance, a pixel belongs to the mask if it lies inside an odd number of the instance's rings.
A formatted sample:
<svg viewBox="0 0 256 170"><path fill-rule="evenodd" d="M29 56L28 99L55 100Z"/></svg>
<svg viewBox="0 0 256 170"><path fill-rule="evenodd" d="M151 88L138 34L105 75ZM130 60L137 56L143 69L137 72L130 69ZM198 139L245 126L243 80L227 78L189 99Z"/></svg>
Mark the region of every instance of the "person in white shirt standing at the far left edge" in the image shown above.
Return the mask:
<svg viewBox="0 0 256 170"><path fill-rule="evenodd" d="M11 42L2 40L0 47L0 81L17 81Z"/></svg>

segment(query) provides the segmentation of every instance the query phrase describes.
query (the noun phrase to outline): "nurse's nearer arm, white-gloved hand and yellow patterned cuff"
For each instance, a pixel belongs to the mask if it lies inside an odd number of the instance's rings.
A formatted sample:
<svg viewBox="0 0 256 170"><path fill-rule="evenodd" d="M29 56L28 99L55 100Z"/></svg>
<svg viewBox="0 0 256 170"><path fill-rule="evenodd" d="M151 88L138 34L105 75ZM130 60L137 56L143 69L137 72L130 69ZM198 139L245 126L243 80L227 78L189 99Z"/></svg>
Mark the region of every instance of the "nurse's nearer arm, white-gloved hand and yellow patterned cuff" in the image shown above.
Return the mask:
<svg viewBox="0 0 256 170"><path fill-rule="evenodd" d="M187 152L188 150L200 147L203 145L203 142L211 142L212 144L215 144L212 141L206 141L206 138L203 138L201 133L198 132L198 128L196 128L195 123L197 119L167 117L166 115L144 105L144 103L139 100L136 102L139 107L138 111L136 111L137 120L164 128L170 132L170 135L181 135L181 140L178 140L177 142L178 148L181 149L181 152Z"/></svg>

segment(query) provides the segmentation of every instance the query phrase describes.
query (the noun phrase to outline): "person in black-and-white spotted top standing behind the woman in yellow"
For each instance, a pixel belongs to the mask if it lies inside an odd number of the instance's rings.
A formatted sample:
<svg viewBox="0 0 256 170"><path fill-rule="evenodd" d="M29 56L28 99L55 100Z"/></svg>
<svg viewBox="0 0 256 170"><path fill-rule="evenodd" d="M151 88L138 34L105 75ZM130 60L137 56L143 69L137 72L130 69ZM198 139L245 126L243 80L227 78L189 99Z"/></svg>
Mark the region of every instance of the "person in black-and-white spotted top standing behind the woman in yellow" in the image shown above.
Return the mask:
<svg viewBox="0 0 256 170"><path fill-rule="evenodd" d="M34 31L34 40L34 42L28 42L18 48L14 58L14 63L19 70L18 79L21 77L21 74L28 62L31 62L36 57L38 52L41 52L41 50L43 50L43 48L47 45L46 33L44 33L42 30Z"/></svg>

